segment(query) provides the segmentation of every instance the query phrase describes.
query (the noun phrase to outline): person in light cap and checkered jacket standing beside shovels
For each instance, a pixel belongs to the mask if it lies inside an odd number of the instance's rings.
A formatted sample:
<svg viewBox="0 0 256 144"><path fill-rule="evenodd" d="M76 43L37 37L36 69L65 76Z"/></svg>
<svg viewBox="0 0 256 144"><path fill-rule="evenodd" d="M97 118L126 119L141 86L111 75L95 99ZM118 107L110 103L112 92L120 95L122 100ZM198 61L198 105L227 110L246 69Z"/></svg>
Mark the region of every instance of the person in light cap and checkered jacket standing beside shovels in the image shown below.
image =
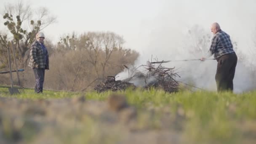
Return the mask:
<svg viewBox="0 0 256 144"><path fill-rule="evenodd" d="M43 43L45 35L38 32L36 40L30 48L29 67L33 68L35 74L35 92L43 93L45 69L49 69L48 51Z"/></svg>

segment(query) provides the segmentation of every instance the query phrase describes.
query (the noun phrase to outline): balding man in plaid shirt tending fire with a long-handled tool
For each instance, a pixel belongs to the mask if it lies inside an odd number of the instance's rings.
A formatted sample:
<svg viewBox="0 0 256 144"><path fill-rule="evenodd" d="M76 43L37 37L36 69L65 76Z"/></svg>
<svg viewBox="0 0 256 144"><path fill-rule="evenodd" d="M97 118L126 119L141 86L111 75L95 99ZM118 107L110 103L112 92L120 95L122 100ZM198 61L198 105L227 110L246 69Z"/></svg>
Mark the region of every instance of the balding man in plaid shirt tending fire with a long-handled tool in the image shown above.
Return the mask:
<svg viewBox="0 0 256 144"><path fill-rule="evenodd" d="M214 58L218 61L215 75L217 91L233 91L233 79L237 65L237 56L233 45L229 35L221 30L218 23L212 24L211 32L214 35L206 57L214 54ZM202 57L201 61L205 61L205 57Z"/></svg>

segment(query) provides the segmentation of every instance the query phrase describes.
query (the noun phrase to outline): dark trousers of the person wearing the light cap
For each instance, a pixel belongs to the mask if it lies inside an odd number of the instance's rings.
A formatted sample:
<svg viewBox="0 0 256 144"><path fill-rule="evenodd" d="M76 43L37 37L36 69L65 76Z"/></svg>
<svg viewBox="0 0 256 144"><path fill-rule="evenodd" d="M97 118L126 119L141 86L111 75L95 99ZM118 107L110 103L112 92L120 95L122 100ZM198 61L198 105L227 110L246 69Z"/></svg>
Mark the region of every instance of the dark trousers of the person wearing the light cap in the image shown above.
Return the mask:
<svg viewBox="0 0 256 144"><path fill-rule="evenodd" d="M45 69L37 69L34 68L35 74L35 92L42 93L43 92L43 82L45 79Z"/></svg>

